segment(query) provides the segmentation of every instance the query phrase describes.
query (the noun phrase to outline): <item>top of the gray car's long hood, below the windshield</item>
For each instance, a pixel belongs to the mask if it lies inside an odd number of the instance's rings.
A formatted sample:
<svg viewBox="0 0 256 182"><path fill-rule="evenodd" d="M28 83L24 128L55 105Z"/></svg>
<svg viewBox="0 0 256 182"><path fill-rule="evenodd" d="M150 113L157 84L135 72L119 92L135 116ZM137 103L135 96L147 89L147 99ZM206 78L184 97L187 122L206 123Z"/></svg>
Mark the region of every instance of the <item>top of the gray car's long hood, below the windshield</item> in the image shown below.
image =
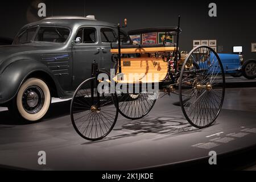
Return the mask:
<svg viewBox="0 0 256 182"><path fill-rule="evenodd" d="M20 53L29 52L42 52L42 51L52 51L53 49L59 48L60 45L56 44L40 44L40 46L35 43L22 44L22 45L10 45L10 46L0 46L0 65L8 57L19 55Z"/></svg>

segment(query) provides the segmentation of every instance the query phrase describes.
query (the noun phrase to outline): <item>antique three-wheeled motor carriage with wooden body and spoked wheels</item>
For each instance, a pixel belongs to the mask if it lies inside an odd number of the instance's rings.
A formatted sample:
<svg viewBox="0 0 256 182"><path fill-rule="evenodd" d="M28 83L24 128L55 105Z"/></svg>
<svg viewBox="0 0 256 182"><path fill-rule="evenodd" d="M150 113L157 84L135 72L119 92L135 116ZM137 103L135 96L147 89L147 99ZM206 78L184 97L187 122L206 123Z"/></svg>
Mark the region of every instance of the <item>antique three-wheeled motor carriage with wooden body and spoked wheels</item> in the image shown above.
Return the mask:
<svg viewBox="0 0 256 182"><path fill-rule="evenodd" d="M118 46L111 49L117 57L115 70L109 75L93 63L92 78L82 82L73 96L71 120L77 133L98 140L113 129L118 113L128 119L144 117L158 98L155 88L179 94L183 114L192 126L212 125L225 94L225 74L217 53L208 46L180 52L180 17L177 27L130 31L133 35L166 32L166 38L176 36L176 43L121 45L121 27L118 24Z"/></svg>

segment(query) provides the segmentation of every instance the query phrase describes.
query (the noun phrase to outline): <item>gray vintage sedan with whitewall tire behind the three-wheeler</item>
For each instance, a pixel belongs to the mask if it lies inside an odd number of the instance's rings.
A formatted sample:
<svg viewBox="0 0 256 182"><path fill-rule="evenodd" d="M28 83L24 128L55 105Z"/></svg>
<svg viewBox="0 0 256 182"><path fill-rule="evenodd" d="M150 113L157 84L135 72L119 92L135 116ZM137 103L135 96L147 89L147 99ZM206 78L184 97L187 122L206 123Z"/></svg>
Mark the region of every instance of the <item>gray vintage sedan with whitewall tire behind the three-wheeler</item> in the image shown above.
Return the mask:
<svg viewBox="0 0 256 182"><path fill-rule="evenodd" d="M122 42L130 42L122 32ZM91 63L113 68L110 48L115 24L92 16L53 16L27 24L11 46L0 47L0 106L28 121L38 121L51 97L69 98L90 77Z"/></svg>

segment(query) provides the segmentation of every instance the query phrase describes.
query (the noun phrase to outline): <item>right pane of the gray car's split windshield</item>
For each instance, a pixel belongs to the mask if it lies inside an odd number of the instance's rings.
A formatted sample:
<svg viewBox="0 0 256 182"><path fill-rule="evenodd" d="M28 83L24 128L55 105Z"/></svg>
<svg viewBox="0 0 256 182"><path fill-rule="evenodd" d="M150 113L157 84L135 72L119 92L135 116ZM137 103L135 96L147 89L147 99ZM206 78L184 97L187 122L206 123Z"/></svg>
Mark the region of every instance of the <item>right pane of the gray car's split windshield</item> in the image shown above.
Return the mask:
<svg viewBox="0 0 256 182"><path fill-rule="evenodd" d="M36 34L36 42L64 43L69 36L68 28L63 27L40 27Z"/></svg>

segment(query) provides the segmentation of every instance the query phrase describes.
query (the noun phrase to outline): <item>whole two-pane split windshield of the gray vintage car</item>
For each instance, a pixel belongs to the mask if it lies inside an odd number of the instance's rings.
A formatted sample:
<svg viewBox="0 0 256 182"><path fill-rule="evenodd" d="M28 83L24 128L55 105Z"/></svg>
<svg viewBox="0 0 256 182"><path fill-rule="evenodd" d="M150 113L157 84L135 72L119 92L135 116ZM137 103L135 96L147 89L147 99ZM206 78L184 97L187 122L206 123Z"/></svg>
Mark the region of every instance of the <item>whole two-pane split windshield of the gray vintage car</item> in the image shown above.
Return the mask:
<svg viewBox="0 0 256 182"><path fill-rule="evenodd" d="M30 42L64 43L69 36L68 28L64 27L38 27L27 28L15 38L14 44ZM35 35L36 34L36 35Z"/></svg>

